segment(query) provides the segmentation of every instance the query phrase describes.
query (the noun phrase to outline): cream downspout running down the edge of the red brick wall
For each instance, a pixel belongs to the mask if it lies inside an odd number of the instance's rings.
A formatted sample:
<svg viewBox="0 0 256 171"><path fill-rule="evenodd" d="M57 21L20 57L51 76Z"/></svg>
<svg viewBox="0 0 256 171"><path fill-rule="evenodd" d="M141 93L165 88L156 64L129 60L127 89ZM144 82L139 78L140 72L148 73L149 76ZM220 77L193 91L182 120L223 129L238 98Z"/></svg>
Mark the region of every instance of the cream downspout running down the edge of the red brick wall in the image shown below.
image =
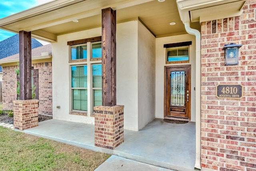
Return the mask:
<svg viewBox="0 0 256 171"><path fill-rule="evenodd" d="M196 36L196 163L195 168L201 169L201 34L190 28L190 22L185 22L188 34Z"/></svg>

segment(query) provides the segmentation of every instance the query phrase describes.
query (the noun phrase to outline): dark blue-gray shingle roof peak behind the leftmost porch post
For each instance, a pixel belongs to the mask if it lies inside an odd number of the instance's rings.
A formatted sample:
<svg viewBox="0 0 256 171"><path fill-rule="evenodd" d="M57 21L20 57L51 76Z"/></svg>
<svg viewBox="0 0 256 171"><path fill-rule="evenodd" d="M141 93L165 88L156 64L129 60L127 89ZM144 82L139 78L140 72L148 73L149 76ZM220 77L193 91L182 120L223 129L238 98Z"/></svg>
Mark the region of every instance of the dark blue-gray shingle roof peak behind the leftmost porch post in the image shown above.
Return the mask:
<svg viewBox="0 0 256 171"><path fill-rule="evenodd" d="M36 39L31 39L31 48L37 48L43 46ZM2 40L0 42L0 59L6 58L8 56L19 53L19 35L15 34L14 36ZM2 72L2 67L0 66L0 72Z"/></svg>

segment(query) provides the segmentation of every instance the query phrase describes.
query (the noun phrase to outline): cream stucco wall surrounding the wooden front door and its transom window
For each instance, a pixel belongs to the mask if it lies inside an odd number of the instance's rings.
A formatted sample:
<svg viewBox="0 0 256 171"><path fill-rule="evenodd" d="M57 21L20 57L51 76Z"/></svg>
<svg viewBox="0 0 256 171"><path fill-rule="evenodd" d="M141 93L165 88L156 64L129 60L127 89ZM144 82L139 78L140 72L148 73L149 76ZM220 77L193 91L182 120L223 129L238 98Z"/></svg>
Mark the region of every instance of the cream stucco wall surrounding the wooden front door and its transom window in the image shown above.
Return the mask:
<svg viewBox="0 0 256 171"><path fill-rule="evenodd" d="M186 64L166 64L164 44L192 41L190 45L190 62ZM156 118L164 118L164 66L191 65L191 121L196 121L196 38L190 34L156 38Z"/></svg>

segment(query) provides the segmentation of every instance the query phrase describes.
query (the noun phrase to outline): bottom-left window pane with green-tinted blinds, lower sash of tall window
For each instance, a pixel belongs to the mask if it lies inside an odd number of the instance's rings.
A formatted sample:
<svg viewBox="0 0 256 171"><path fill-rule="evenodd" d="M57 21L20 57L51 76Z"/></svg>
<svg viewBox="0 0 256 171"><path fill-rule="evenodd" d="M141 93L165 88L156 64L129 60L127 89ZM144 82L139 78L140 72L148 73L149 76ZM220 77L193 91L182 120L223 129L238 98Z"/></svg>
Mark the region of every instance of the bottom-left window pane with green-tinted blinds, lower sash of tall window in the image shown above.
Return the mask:
<svg viewBox="0 0 256 171"><path fill-rule="evenodd" d="M73 110L87 111L87 89L72 89Z"/></svg>

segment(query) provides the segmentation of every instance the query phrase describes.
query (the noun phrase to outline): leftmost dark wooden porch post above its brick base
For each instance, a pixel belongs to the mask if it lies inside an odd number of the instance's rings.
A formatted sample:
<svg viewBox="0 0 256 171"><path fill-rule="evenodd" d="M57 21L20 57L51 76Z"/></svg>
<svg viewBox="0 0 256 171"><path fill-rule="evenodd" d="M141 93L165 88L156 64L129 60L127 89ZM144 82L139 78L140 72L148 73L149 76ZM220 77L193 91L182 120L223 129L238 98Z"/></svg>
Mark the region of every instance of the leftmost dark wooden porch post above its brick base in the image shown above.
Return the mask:
<svg viewBox="0 0 256 171"><path fill-rule="evenodd" d="M24 30L20 36L20 100L32 99L31 93L31 32Z"/></svg>

